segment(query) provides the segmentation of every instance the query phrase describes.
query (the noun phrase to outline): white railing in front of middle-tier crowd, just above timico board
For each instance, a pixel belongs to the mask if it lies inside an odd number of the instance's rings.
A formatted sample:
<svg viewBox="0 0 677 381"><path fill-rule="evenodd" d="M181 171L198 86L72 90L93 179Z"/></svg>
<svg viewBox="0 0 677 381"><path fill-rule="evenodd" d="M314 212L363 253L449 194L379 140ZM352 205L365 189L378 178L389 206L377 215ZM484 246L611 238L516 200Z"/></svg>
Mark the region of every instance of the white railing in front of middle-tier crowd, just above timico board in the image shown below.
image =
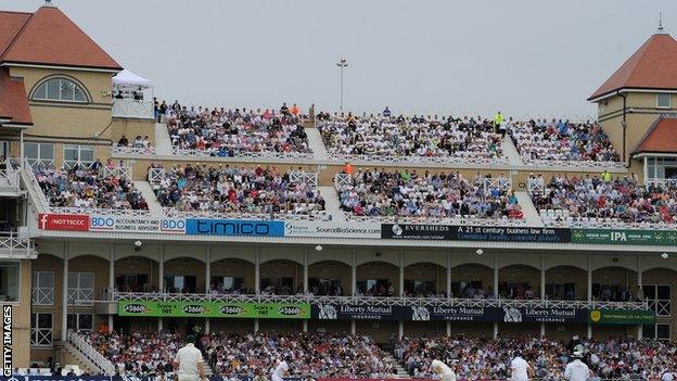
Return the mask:
<svg viewBox="0 0 677 381"><path fill-rule="evenodd" d="M177 211L174 207L163 207L163 214L167 218L216 218L216 219L251 219L251 220L278 220L278 221L329 221L334 217L325 211L311 212L310 214L293 213L229 213L213 211Z"/></svg>

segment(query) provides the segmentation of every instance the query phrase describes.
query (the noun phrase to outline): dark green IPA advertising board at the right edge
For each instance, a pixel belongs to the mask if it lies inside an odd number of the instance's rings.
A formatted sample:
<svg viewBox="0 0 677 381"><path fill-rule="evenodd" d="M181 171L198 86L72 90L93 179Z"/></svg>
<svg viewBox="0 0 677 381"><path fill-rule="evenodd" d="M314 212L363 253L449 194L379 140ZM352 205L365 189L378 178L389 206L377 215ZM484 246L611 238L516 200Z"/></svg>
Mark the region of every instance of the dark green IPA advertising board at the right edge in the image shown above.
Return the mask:
<svg viewBox="0 0 677 381"><path fill-rule="evenodd" d="M573 243L676 245L674 230L572 229Z"/></svg>

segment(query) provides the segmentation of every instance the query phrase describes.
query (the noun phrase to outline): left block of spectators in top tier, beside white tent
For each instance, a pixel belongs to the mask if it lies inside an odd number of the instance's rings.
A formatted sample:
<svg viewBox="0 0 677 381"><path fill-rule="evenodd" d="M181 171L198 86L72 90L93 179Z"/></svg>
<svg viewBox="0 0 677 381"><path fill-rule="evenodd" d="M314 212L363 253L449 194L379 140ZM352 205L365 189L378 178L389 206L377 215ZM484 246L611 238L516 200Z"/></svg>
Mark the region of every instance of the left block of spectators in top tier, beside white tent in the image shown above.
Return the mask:
<svg viewBox="0 0 677 381"><path fill-rule="evenodd" d="M209 109L157 105L166 116L175 149L195 150L205 155L232 157L250 153L311 153L302 125L301 109L285 104L280 110Z"/></svg>

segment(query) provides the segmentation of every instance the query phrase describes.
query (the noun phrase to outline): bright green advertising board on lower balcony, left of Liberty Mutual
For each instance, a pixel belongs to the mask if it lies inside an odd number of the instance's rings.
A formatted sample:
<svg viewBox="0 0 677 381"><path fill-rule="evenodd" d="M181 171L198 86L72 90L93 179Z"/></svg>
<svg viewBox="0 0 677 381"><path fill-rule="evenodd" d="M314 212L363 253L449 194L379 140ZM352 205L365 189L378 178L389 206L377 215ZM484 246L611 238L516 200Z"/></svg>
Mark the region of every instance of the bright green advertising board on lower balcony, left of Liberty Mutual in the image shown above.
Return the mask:
<svg viewBox="0 0 677 381"><path fill-rule="evenodd" d="M119 316L309 319L309 303L119 301Z"/></svg>

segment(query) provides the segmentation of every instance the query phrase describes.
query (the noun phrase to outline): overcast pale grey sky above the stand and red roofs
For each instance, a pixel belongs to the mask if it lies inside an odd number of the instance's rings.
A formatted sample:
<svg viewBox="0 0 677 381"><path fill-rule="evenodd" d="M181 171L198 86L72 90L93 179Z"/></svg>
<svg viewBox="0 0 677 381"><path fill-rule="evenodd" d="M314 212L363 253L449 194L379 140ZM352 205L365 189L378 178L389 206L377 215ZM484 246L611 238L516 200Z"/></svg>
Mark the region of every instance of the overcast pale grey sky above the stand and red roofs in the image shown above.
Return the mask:
<svg viewBox="0 0 677 381"><path fill-rule="evenodd" d="M122 66L186 104L593 115L586 99L676 0L53 0ZM35 11L39 0L0 0Z"/></svg>

